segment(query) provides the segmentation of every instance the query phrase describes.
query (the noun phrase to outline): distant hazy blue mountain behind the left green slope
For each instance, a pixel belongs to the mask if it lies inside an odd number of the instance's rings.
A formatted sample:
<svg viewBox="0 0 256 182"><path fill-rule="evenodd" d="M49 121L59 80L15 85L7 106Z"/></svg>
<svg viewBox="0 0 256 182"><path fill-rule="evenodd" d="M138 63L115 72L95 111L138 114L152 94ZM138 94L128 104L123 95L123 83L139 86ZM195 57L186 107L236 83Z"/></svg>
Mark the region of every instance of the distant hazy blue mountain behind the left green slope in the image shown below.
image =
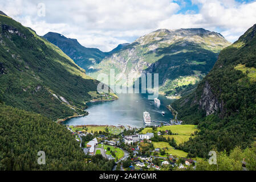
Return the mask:
<svg viewBox="0 0 256 182"><path fill-rule="evenodd" d="M86 69L86 71L95 63L100 63L107 55L97 48L83 47L78 40L66 38L55 32L48 32L43 38L62 49L79 67Z"/></svg>

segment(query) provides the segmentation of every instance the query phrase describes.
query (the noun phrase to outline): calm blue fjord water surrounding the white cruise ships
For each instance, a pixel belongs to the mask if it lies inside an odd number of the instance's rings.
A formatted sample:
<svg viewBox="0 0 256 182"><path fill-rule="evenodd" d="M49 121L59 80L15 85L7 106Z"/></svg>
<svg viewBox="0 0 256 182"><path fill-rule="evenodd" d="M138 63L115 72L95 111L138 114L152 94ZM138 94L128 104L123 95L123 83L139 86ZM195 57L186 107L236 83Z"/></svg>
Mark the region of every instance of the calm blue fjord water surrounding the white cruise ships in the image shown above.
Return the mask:
<svg viewBox="0 0 256 182"><path fill-rule="evenodd" d="M148 94L118 94L119 100L88 103L89 114L85 117L68 119L66 125L123 125L125 127L144 127L143 112L147 110L153 121L168 122L173 118L166 108L173 100L159 96L161 105L148 100ZM161 114L165 111L165 115ZM152 123L159 125L159 123Z"/></svg>

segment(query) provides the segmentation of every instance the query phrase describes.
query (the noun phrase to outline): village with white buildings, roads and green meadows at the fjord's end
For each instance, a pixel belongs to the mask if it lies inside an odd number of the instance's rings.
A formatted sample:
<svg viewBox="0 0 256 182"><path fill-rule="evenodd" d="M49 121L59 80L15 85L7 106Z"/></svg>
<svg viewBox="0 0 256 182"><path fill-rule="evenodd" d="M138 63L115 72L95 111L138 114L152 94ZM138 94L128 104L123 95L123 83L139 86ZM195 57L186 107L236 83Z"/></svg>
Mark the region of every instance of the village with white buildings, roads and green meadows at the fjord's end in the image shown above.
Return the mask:
<svg viewBox="0 0 256 182"><path fill-rule="evenodd" d="M125 129L123 126L67 126L86 155L115 160L113 170L185 170L195 168L196 156L178 150L197 132L194 125Z"/></svg>

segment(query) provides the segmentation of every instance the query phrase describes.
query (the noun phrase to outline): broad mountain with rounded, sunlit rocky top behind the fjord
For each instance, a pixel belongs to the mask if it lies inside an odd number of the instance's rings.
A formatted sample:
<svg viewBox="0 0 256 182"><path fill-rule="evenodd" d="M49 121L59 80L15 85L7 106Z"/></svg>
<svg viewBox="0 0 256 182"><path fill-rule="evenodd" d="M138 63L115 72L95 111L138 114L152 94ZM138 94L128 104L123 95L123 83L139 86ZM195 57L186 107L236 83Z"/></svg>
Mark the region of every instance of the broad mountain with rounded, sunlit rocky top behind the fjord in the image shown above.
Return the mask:
<svg viewBox="0 0 256 182"><path fill-rule="evenodd" d="M116 75L131 73L135 80L141 73L159 73L161 93L174 96L192 89L213 67L221 49L229 45L221 34L203 28L161 29L113 52L88 72L97 78L112 68Z"/></svg>

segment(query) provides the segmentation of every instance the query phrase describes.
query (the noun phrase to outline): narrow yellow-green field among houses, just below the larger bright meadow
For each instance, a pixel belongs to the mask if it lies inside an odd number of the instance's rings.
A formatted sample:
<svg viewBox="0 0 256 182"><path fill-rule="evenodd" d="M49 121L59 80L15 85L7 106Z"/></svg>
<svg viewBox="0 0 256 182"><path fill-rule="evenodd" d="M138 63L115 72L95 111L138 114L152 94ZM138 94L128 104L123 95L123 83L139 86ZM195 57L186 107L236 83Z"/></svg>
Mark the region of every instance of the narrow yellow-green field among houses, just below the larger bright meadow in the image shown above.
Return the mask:
<svg viewBox="0 0 256 182"><path fill-rule="evenodd" d="M172 154L172 155L176 155L181 158L185 158L186 155L188 155L187 152L184 152L182 150L173 149L173 147L170 146L169 143L167 143L167 142L152 142L152 143L155 148L162 149L162 148L168 147L168 150L165 150L165 153L167 153L168 155ZM159 156L162 156L162 155L159 154ZM166 155L164 155L164 156L166 156Z"/></svg>

